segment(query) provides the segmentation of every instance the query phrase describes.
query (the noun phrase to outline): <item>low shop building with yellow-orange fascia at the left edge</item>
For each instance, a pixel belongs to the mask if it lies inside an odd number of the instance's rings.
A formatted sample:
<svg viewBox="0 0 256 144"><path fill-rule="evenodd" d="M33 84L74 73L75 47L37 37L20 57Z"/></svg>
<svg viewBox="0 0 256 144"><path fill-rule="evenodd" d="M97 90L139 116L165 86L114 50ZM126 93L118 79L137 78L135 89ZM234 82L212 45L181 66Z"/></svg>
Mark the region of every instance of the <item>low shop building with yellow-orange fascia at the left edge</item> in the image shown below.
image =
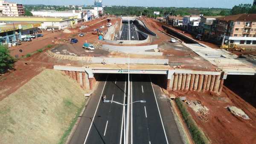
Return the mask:
<svg viewBox="0 0 256 144"><path fill-rule="evenodd" d="M8 44L20 39L21 35L37 33L41 23L10 23L0 26L0 44Z"/></svg>

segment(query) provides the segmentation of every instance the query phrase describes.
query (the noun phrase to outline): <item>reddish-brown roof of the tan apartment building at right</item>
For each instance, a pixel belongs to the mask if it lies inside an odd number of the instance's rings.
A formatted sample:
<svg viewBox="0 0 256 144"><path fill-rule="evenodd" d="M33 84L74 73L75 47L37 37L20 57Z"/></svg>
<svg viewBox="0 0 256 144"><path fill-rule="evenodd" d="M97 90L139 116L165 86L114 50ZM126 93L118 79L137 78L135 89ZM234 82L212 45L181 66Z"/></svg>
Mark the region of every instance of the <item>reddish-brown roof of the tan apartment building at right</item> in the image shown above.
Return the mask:
<svg viewBox="0 0 256 144"><path fill-rule="evenodd" d="M226 17L219 17L218 20L224 21L256 21L256 14L236 14Z"/></svg>

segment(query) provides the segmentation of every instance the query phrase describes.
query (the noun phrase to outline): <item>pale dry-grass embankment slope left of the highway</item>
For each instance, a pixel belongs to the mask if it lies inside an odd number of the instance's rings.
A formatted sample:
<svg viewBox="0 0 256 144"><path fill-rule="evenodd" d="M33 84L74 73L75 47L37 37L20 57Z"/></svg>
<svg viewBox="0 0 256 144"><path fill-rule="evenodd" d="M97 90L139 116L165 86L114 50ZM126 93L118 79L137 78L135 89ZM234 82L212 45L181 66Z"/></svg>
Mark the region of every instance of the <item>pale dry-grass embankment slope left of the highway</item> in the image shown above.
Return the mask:
<svg viewBox="0 0 256 144"><path fill-rule="evenodd" d="M56 144L84 102L76 81L46 69L0 101L0 144Z"/></svg>

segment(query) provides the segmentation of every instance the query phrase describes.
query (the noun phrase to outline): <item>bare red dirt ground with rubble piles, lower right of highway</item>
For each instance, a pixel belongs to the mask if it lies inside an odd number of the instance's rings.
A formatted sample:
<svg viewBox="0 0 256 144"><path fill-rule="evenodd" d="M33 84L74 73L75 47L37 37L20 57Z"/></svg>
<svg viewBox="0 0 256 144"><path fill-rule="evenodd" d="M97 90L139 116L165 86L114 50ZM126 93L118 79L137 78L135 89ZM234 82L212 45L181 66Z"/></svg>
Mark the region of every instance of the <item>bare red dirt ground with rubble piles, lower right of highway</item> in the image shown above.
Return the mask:
<svg viewBox="0 0 256 144"><path fill-rule="evenodd" d="M187 107L212 144L256 144L256 109L230 89L223 86L221 95L197 92L187 92L185 95L187 99L200 101L209 109L208 121L205 122ZM225 108L227 106L242 109L250 120L233 115Z"/></svg>

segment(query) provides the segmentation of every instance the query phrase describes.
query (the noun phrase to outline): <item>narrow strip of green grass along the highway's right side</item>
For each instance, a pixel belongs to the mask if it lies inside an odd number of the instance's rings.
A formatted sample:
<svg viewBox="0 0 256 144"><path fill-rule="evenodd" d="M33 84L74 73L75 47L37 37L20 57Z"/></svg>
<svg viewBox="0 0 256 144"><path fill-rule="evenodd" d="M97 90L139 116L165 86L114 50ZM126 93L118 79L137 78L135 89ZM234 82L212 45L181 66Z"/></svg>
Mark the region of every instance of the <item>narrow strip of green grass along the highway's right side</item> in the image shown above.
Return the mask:
<svg viewBox="0 0 256 144"><path fill-rule="evenodd" d="M186 107L184 106L180 98L176 98L175 101L177 103L178 108L180 109L180 112L184 121L187 124L187 127L189 128L189 132L191 133L195 144L208 144L209 141L207 137L204 135L204 132L202 132L198 128L197 124L195 123L194 119L187 111Z"/></svg>

